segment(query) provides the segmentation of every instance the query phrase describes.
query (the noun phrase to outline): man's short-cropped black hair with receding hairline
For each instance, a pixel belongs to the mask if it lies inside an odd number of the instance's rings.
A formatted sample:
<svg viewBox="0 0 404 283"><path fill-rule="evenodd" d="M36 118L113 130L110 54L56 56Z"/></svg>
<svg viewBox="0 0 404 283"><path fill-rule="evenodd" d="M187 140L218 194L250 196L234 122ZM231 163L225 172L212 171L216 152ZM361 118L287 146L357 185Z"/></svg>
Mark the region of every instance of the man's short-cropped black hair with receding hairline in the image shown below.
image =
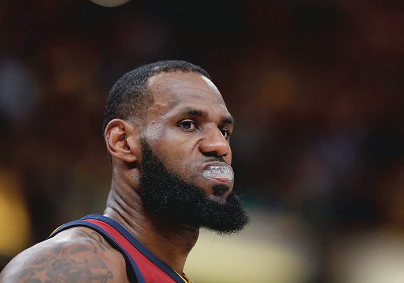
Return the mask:
<svg viewBox="0 0 404 283"><path fill-rule="evenodd" d="M136 122L145 118L145 110L153 103L147 88L148 79L171 72L195 72L211 80L207 71L186 61L166 60L140 66L123 75L112 87L105 108L103 134L115 118Z"/></svg>

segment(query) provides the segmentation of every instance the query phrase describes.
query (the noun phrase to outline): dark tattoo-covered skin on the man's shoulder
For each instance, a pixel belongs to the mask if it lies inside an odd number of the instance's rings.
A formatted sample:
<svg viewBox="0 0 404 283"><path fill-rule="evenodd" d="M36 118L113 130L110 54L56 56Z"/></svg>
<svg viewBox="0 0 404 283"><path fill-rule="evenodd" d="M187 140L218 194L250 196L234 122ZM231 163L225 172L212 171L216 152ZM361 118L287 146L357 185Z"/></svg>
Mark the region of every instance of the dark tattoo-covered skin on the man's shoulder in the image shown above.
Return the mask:
<svg viewBox="0 0 404 283"><path fill-rule="evenodd" d="M108 283L114 275L105 261L111 247L96 232L76 229L80 244L56 242L24 259L10 282L20 283Z"/></svg>

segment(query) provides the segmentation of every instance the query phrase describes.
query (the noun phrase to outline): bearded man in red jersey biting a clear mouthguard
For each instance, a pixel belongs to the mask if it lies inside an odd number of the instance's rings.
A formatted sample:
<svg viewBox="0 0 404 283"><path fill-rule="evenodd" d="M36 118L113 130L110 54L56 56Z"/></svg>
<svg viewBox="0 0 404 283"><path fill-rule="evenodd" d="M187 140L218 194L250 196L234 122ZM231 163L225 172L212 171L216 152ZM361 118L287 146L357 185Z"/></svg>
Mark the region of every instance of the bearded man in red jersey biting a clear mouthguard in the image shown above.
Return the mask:
<svg viewBox="0 0 404 283"><path fill-rule="evenodd" d="M0 282L190 282L199 228L240 231L232 192L233 118L208 73L162 61L112 88L104 136L112 184L104 215L62 225L16 256Z"/></svg>

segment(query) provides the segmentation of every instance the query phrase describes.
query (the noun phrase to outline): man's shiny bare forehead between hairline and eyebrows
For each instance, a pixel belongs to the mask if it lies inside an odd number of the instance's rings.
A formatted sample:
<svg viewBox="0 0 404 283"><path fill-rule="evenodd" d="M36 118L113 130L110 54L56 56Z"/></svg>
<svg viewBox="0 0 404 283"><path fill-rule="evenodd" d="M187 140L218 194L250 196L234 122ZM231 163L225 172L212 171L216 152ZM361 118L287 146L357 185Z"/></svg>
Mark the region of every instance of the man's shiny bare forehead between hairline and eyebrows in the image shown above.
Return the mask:
<svg viewBox="0 0 404 283"><path fill-rule="evenodd" d="M160 114L183 104L214 107L216 111L228 114L217 87L211 80L198 73L160 73L149 78L148 89L154 99L150 110L160 110Z"/></svg>

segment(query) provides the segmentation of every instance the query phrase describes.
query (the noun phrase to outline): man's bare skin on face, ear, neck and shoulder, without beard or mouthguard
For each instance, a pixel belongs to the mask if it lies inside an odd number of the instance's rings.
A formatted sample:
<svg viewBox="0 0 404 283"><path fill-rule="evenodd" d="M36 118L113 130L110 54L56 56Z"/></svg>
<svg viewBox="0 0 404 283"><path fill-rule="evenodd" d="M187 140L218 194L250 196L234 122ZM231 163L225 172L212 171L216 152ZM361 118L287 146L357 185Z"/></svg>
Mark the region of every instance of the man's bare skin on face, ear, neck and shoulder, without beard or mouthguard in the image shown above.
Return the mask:
<svg viewBox="0 0 404 283"><path fill-rule="evenodd" d="M197 73L160 73L148 87L154 103L144 121L112 120L105 131L112 155L112 185L104 212L151 253L182 274L199 229L168 226L148 212L140 198L141 142L173 173L225 202L233 181L203 175L208 165L231 164L229 135L233 120L216 86ZM225 162L210 161L221 156ZM214 195L215 184L230 190ZM71 228L15 257L0 273L6 282L128 282L123 256L88 228Z"/></svg>

